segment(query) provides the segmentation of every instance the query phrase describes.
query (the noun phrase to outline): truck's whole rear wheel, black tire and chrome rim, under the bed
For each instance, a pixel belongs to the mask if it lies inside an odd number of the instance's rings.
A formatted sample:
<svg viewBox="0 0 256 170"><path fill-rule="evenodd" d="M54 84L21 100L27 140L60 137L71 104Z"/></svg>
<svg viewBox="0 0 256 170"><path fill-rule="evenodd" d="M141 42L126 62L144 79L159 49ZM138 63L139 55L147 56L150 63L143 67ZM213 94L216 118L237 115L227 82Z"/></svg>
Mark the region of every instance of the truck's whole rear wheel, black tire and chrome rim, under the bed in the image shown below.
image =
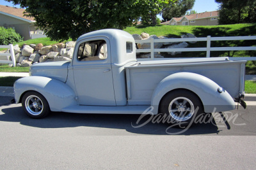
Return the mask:
<svg viewBox="0 0 256 170"><path fill-rule="evenodd" d="M189 90L174 90L161 100L160 113L168 117L168 124L188 126L196 115L203 113L203 105L198 96Z"/></svg>

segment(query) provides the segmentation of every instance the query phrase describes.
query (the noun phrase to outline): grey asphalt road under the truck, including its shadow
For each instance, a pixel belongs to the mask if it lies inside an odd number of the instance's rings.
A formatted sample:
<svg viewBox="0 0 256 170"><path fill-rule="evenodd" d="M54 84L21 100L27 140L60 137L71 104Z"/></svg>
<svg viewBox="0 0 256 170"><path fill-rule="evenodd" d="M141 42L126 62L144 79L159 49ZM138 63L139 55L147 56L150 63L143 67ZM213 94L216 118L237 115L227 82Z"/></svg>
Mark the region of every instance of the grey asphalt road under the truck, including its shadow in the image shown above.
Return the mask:
<svg viewBox="0 0 256 170"><path fill-rule="evenodd" d="M140 115L52 113L35 120L20 104L6 104L1 169L255 169L255 110L214 113L185 131L153 120L136 128Z"/></svg>

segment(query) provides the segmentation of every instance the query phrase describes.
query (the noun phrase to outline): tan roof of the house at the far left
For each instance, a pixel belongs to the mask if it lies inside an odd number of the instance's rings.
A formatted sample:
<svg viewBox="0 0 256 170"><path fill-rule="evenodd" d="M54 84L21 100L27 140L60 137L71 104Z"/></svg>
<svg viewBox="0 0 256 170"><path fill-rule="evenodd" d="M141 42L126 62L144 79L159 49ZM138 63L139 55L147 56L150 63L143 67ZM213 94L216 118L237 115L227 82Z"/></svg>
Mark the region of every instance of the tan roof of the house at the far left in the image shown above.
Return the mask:
<svg viewBox="0 0 256 170"><path fill-rule="evenodd" d="M26 22L35 22L35 18L24 16L24 9L22 8L13 8L10 6L0 5L0 13L8 15L10 17L18 18Z"/></svg>

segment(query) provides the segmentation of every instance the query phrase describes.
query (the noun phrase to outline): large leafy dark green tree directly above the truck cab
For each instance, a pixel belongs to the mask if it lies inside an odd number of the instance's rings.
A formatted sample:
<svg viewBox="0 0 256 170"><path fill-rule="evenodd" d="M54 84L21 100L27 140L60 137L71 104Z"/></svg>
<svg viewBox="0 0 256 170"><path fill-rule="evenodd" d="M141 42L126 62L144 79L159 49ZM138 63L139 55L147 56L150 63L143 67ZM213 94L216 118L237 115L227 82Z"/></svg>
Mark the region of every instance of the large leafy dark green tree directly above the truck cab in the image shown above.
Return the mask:
<svg viewBox="0 0 256 170"><path fill-rule="evenodd" d="M49 38L63 41L98 29L124 29L164 3L176 0L6 0L26 8Z"/></svg>

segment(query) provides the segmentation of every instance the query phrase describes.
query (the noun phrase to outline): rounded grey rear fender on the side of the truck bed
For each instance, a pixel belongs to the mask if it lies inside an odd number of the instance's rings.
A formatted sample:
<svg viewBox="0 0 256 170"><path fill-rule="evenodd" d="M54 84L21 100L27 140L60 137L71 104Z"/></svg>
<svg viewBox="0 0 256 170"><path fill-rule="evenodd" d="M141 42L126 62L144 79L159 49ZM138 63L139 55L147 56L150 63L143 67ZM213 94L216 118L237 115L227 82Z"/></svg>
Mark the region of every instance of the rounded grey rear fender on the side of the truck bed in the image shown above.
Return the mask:
<svg viewBox="0 0 256 170"><path fill-rule="evenodd" d="M162 97L175 89L187 89L194 92L202 101L205 113L234 110L234 99L227 91L218 92L220 86L200 74L181 72L171 74L157 85L152 95L151 105L154 113L158 111Z"/></svg>

